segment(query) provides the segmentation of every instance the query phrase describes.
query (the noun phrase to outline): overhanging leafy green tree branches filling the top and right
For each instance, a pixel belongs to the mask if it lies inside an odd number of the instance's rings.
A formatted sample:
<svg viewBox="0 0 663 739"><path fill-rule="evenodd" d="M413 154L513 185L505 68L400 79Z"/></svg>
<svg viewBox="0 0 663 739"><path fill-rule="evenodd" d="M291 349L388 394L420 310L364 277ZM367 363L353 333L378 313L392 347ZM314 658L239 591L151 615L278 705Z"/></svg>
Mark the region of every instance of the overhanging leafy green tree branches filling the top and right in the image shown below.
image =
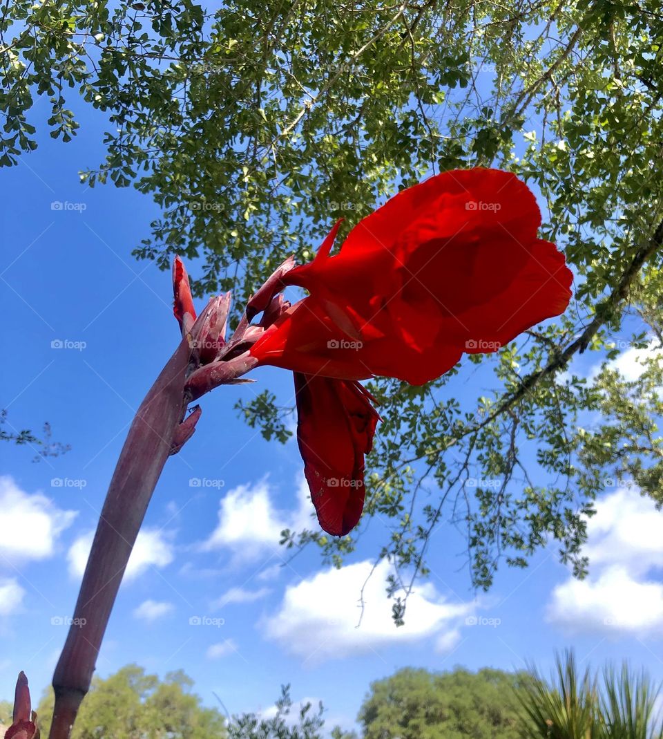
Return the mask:
<svg viewBox="0 0 663 739"><path fill-rule="evenodd" d="M81 180L151 194L162 215L136 256L203 256L198 293L250 293L337 217L347 232L442 169L501 166L537 185L542 233L577 274L573 306L427 386L371 384L384 420L366 510L391 519L379 556L408 573L394 592L427 572L441 522L467 537L478 587L551 540L583 576L583 514L606 480L663 502L662 42L657 0L18 0L0 16L0 163L35 148L36 95L69 140L78 89L109 117L106 160ZM639 378L561 374L625 338L645 350ZM460 403L470 369L481 395ZM269 391L241 412L287 437ZM337 564L354 540L284 534Z"/></svg>

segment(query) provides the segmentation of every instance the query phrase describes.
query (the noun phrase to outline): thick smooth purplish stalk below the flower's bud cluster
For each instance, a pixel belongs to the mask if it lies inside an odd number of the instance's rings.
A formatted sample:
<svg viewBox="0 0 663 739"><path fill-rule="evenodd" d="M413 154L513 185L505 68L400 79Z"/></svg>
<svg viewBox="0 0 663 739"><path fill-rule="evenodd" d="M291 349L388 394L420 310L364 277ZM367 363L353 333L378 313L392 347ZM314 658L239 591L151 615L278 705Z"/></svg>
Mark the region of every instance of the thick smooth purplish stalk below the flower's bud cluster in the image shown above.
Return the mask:
<svg viewBox="0 0 663 739"><path fill-rule="evenodd" d="M103 504L72 626L53 675L55 709L49 739L69 739L148 503L168 455L182 446L176 431L185 413L189 359L190 347L183 339L131 423ZM185 429L185 439L191 433L193 429Z"/></svg>

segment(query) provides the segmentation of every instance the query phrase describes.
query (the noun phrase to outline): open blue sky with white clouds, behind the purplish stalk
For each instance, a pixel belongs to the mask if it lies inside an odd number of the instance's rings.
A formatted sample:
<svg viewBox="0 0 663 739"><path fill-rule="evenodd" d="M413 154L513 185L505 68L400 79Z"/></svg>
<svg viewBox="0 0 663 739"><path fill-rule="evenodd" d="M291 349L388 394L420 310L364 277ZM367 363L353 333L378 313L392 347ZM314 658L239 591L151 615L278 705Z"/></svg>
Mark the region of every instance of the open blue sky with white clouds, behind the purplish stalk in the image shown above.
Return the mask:
<svg viewBox="0 0 663 739"><path fill-rule="evenodd" d="M42 137L38 151L0 175L8 313L0 407L21 428L49 420L55 438L72 445L38 464L29 448L0 449L5 698L19 670L34 695L50 681L128 424L179 338L168 273L131 256L158 211L131 189L78 183L78 171L103 158L103 119L90 111L80 118L72 143ZM54 210L53 202L67 205ZM195 277L195 265L190 271ZM626 352L620 366L634 372L635 359ZM591 361L578 367L589 371ZM474 369L464 366L449 392L475 397ZM182 667L206 704L216 704L216 692L232 713L269 709L289 682L293 698L323 700L330 728L352 726L368 684L406 665L512 669L535 661L547 672L554 650L574 646L581 660L628 657L663 678L663 514L616 486L591 523L588 581L572 582L552 547L525 571L503 568L492 591L478 595L464 542L445 524L405 627L391 623L381 567L357 628L359 591L385 522L371 522L340 571L313 549L289 559L278 531L311 511L296 443L268 443L233 405L267 387L290 404L292 380L275 369L253 376L255 386L206 396L196 435L168 461L111 617L100 675L128 662L161 675Z"/></svg>

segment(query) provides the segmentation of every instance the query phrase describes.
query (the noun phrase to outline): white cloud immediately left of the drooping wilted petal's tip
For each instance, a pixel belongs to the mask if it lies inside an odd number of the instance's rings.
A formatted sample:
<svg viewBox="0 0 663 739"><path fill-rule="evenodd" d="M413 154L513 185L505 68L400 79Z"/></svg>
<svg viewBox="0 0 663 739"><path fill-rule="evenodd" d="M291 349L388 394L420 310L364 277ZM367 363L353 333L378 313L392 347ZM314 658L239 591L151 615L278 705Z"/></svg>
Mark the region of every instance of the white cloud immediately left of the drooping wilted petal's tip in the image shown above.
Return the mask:
<svg viewBox="0 0 663 739"><path fill-rule="evenodd" d="M202 548L231 548L236 559L257 559L265 552L278 550L284 528L311 528L313 508L302 480L303 475L293 496L297 508L290 512L275 507L267 480L230 490L221 498L219 524Z"/></svg>

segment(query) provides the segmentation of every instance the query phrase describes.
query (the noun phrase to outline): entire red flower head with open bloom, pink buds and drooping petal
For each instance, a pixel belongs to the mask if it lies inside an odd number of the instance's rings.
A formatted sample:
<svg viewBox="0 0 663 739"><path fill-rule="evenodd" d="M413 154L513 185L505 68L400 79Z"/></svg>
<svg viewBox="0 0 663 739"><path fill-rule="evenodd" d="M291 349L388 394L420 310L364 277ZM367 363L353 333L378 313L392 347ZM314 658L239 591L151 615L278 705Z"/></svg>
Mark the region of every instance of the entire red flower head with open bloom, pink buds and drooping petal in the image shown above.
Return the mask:
<svg viewBox="0 0 663 739"><path fill-rule="evenodd" d="M535 197L509 172L431 177L360 221L334 256L338 223L312 262L295 267L286 259L227 342L216 327L229 299L222 310L211 301L193 324L186 273L176 260L175 313L183 328L191 321L193 347L219 334L212 353L195 353L189 398L236 382L258 364L292 369L317 517L329 534L347 534L362 511L364 454L378 420L357 381L385 375L423 384L462 353L494 352L563 313L572 274L554 244L537 238L540 222ZM291 306L278 295L287 285L309 296ZM250 324L260 312L259 324Z"/></svg>

